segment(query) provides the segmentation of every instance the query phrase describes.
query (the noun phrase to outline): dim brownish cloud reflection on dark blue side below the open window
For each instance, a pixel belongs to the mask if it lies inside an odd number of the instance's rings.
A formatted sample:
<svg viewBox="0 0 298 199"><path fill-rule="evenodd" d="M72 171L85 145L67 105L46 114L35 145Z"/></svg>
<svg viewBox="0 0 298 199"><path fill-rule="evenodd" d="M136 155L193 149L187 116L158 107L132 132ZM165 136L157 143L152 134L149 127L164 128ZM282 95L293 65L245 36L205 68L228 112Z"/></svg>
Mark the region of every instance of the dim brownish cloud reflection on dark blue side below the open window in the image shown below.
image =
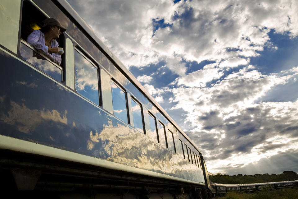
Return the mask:
<svg viewBox="0 0 298 199"><path fill-rule="evenodd" d="M20 105L14 101L10 104L11 110L7 112L8 115L3 114L0 121L15 126L20 132L31 134L44 120L67 124L66 110L64 113L59 113L57 110L31 110L24 104Z"/></svg>

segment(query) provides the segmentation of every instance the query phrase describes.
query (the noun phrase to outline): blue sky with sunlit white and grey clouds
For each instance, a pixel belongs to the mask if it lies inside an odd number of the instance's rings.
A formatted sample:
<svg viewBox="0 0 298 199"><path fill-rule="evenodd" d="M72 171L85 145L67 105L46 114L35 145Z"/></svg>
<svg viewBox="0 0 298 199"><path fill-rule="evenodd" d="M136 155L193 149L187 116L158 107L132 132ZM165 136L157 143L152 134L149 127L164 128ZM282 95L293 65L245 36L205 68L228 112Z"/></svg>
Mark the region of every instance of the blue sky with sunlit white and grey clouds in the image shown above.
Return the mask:
<svg viewBox="0 0 298 199"><path fill-rule="evenodd" d="M298 1L68 0L212 174L298 172Z"/></svg>

